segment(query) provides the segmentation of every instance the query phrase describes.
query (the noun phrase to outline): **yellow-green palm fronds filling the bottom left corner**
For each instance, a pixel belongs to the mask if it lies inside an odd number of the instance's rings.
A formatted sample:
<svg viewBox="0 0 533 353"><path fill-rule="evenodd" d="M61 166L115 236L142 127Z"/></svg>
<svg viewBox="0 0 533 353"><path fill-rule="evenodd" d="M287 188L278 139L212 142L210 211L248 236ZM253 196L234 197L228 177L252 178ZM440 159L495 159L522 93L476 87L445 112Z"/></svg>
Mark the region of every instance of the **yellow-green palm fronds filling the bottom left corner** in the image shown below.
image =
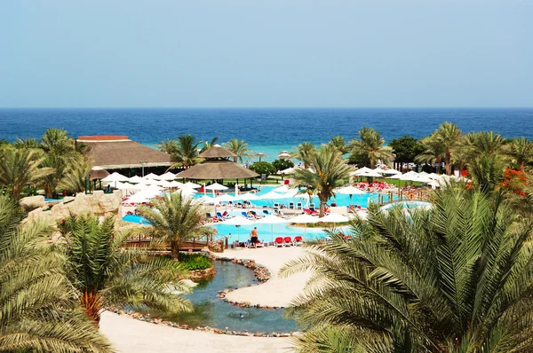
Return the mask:
<svg viewBox="0 0 533 353"><path fill-rule="evenodd" d="M73 300L65 258L42 241L51 230L23 218L0 196L0 351L110 352Z"/></svg>

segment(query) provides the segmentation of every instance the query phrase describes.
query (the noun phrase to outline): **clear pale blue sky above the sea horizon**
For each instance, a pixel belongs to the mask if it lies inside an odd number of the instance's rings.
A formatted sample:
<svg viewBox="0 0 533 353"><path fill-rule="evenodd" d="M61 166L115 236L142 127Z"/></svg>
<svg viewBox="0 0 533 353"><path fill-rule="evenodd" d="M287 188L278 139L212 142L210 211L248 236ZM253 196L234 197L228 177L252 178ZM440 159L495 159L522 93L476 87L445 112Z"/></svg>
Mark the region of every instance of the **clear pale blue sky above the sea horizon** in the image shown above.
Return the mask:
<svg viewBox="0 0 533 353"><path fill-rule="evenodd" d="M2 0L0 106L533 106L532 19L526 0Z"/></svg>

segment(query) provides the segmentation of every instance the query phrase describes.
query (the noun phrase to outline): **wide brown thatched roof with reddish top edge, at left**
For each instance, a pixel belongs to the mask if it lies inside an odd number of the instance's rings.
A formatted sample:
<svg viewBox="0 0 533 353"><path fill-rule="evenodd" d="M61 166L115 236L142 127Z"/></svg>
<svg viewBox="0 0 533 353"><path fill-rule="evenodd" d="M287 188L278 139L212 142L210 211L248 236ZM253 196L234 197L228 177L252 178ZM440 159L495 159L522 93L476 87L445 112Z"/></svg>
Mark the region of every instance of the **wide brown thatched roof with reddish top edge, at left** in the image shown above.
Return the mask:
<svg viewBox="0 0 533 353"><path fill-rule="evenodd" d="M82 136L76 144L89 146L92 164L103 169L169 167L171 155L131 141L127 136Z"/></svg>

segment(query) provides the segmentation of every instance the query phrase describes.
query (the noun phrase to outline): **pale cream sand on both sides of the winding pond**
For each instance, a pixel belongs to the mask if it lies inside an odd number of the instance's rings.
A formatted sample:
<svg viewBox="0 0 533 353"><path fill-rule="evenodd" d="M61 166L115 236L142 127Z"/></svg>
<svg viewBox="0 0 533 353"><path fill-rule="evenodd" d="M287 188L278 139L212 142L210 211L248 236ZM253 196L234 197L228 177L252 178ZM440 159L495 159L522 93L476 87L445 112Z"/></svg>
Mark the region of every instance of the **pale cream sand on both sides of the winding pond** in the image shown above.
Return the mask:
<svg viewBox="0 0 533 353"><path fill-rule="evenodd" d="M298 258L304 252L301 247L259 247L227 250L214 254L230 258L251 259L268 268L272 277L264 284L237 289L227 294L235 302L251 302L263 306L287 306L290 300L302 292L308 273L298 273L290 278L279 278L278 271L284 263ZM278 353L292 351L290 338L244 337L206 333L193 330L155 325L139 321L127 315L104 312L100 332L107 336L119 352L261 352Z"/></svg>

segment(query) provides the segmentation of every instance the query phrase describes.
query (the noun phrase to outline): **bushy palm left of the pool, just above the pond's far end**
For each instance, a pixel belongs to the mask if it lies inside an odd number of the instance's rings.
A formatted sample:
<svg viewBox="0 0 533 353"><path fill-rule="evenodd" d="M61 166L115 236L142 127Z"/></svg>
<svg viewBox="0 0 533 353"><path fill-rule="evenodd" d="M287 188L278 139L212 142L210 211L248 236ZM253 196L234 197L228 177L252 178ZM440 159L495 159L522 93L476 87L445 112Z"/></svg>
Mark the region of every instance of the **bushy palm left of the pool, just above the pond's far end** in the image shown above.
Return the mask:
<svg viewBox="0 0 533 353"><path fill-rule="evenodd" d="M171 255L178 260L179 248L190 239L213 234L203 225L203 205L181 192L171 192L153 202L154 208L140 206L139 214L152 224L155 239L171 244Z"/></svg>

